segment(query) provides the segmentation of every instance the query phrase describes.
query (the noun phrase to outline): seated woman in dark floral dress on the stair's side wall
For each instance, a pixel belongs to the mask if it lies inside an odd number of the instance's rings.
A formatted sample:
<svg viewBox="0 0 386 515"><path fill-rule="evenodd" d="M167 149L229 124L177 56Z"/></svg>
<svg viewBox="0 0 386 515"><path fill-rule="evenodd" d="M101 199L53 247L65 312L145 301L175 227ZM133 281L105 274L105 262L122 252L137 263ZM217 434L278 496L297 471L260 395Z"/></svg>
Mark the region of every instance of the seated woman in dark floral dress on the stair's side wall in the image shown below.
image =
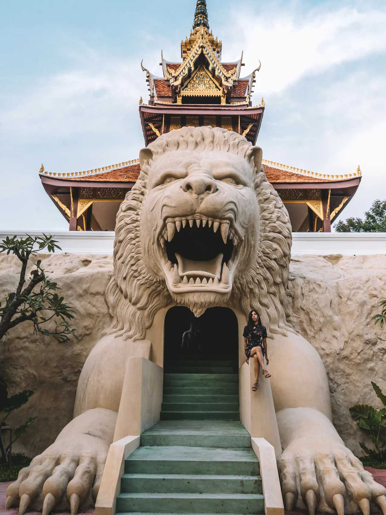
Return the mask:
<svg viewBox="0 0 386 515"><path fill-rule="evenodd" d="M268 370L264 368L264 356L266 356L267 365L269 363L267 354L267 330L264 325L261 325L260 315L256 310L250 312L248 324L245 325L242 335L244 337L244 352L247 363L249 363L251 356L254 358L255 383L252 386L252 391L256 391L259 382L260 365L264 377L271 377Z"/></svg>

